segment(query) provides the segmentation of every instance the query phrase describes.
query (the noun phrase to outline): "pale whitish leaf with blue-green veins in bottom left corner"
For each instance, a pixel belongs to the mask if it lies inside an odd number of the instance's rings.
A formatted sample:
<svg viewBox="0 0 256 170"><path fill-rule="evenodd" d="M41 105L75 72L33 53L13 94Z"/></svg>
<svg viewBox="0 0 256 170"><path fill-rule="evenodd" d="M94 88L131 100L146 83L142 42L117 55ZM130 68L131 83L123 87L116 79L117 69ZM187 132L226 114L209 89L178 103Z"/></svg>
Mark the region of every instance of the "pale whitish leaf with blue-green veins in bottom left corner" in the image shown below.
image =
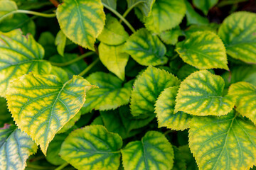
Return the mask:
<svg viewBox="0 0 256 170"><path fill-rule="evenodd" d="M25 169L26 159L36 153L37 148L31 137L21 132L15 125L0 128L1 169Z"/></svg>

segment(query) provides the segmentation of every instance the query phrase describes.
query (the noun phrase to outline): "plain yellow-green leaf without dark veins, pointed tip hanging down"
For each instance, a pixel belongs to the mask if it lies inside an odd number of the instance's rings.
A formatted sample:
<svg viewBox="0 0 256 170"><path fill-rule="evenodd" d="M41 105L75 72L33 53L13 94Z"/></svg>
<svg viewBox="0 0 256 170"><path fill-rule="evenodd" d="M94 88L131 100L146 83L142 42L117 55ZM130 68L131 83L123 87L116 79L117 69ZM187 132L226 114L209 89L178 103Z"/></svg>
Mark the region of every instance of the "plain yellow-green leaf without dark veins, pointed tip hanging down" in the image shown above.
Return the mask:
<svg viewBox="0 0 256 170"><path fill-rule="evenodd" d="M100 42L99 57L102 64L107 67L110 72L124 81L125 66L129 60L129 55L122 52L124 45L110 46Z"/></svg>

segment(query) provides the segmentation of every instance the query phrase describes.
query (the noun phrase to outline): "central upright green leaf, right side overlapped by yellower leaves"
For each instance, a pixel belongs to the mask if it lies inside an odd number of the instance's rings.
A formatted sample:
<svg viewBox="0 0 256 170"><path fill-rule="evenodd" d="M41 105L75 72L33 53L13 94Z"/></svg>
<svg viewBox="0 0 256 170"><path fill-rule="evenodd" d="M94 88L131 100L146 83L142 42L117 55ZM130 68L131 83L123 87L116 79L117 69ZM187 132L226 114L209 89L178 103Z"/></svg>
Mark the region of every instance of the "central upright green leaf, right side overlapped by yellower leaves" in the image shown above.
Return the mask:
<svg viewBox="0 0 256 170"><path fill-rule="evenodd" d="M173 74L148 67L134 82L130 105L132 115L154 115L154 104L161 91L178 84L180 81Z"/></svg>

